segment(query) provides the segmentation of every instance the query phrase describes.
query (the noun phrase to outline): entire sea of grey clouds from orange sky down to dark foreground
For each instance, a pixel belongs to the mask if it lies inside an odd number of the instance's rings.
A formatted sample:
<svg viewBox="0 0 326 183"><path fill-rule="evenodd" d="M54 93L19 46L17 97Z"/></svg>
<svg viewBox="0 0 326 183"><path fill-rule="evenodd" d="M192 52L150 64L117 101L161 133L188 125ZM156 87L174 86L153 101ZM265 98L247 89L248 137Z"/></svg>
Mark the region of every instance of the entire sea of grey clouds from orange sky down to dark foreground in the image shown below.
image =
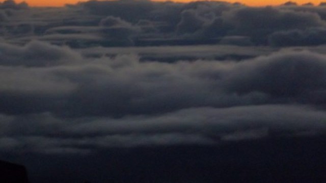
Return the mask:
<svg viewBox="0 0 326 183"><path fill-rule="evenodd" d="M218 144L326 130L326 6L0 4L0 149Z"/></svg>

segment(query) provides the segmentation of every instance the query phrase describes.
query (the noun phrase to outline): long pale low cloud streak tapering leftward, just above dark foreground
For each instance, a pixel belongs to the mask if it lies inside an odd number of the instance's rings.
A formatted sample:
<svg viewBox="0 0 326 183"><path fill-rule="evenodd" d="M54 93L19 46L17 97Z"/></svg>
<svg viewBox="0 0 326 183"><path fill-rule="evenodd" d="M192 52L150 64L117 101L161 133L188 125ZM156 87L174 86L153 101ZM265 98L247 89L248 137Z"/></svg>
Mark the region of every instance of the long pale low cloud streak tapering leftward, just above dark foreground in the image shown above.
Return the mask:
<svg viewBox="0 0 326 183"><path fill-rule="evenodd" d="M235 115L236 114L236 115ZM300 119L301 118L301 119ZM185 133L213 137L265 129L322 132L324 112L306 106L258 105L231 108L191 108L158 116L133 116L120 119L100 118L75 123L65 129L76 135ZM300 119L300 120L298 120ZM314 122L312 122L314 121ZM311 124L315 123L315 124ZM307 129L305 129L307 127ZM216 142L219 141L219 139Z"/></svg>

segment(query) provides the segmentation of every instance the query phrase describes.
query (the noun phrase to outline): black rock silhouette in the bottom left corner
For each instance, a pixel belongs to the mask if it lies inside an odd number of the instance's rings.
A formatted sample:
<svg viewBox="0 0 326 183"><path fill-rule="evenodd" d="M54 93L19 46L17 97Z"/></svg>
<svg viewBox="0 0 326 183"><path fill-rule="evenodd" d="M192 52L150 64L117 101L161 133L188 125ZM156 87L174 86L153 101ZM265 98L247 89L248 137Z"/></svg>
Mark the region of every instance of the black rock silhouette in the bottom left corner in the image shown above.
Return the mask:
<svg viewBox="0 0 326 183"><path fill-rule="evenodd" d="M0 161L0 182L29 183L26 168L5 161Z"/></svg>

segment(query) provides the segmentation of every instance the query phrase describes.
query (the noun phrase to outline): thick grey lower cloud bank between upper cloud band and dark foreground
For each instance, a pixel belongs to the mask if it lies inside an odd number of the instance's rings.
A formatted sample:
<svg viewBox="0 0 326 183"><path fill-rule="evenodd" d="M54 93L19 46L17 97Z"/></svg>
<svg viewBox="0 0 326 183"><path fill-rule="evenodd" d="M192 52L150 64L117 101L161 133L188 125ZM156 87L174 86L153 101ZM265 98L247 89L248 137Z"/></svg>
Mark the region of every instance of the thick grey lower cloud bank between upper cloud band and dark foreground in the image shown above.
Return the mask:
<svg viewBox="0 0 326 183"><path fill-rule="evenodd" d="M212 54L209 48L201 54ZM88 153L325 130L326 56L308 50L252 51L240 60L197 53L173 62L141 61L145 51L159 58L173 47L105 55L110 49L86 53L34 41L2 50L3 150Z"/></svg>

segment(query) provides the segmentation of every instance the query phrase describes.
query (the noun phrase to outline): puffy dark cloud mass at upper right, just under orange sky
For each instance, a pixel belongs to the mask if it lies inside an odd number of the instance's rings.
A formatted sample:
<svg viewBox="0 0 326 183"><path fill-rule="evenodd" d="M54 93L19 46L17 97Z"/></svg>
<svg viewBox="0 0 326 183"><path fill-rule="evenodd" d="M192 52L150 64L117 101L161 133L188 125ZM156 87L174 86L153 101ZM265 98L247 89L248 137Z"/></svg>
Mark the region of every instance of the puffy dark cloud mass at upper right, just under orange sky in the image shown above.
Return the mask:
<svg viewBox="0 0 326 183"><path fill-rule="evenodd" d="M234 26L229 34L250 36L255 43L265 43L267 36L276 31L323 27L325 22L313 12L281 8L243 7L226 12L224 20Z"/></svg>

